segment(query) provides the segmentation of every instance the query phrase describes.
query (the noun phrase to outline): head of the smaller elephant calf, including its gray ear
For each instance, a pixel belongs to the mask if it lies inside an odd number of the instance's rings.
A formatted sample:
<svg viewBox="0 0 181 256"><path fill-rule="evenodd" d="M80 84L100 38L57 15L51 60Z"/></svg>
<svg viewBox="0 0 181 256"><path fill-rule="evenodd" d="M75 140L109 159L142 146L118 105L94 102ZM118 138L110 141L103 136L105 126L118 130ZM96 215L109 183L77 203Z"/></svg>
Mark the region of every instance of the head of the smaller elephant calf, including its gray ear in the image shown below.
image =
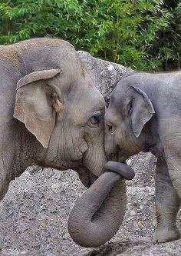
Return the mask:
<svg viewBox="0 0 181 256"><path fill-rule="evenodd" d="M134 86L134 79L132 75L120 79L110 96L105 114L105 148L111 160L125 161L146 151L151 136L146 128L155 111L146 93Z"/></svg>

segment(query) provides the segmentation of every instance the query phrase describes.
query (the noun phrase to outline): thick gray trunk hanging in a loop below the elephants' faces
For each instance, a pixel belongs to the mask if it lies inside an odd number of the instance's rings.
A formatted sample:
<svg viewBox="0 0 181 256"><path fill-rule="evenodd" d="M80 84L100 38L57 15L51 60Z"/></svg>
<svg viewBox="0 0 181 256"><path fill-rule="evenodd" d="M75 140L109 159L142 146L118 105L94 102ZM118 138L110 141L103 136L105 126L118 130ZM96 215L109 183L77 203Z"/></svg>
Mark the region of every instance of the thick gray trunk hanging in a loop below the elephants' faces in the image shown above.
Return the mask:
<svg viewBox="0 0 181 256"><path fill-rule="evenodd" d="M126 211L126 185L121 176L105 172L79 198L68 220L71 238L83 247L97 247L117 233Z"/></svg>

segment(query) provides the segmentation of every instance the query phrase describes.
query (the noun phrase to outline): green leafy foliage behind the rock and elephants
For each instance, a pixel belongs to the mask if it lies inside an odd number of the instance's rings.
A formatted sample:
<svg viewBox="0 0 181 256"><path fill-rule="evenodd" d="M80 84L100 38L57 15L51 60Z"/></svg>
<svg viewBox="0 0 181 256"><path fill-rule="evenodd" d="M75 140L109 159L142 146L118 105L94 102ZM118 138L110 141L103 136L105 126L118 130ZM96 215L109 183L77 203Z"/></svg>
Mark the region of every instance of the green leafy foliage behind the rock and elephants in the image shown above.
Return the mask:
<svg viewBox="0 0 181 256"><path fill-rule="evenodd" d="M179 0L1 1L0 43L55 36L131 68L176 69L180 13Z"/></svg>

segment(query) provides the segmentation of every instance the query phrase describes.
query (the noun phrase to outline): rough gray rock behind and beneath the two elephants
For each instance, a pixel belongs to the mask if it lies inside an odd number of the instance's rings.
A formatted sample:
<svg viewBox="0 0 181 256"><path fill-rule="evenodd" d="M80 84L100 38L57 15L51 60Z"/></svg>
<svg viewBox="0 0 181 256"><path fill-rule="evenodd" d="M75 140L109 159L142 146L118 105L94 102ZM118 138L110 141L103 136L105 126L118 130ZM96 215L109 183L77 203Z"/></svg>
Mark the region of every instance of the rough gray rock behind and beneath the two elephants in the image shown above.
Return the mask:
<svg viewBox="0 0 181 256"><path fill-rule="evenodd" d="M109 99L114 81L130 69L77 52L94 84ZM85 188L74 171L28 168L11 182L0 202L1 256L170 256L180 255L181 240L153 245L155 228L154 171L151 154L128 160L136 171L127 182L127 214L112 240L100 248L81 248L67 232L67 218ZM179 213L178 227L181 230Z"/></svg>

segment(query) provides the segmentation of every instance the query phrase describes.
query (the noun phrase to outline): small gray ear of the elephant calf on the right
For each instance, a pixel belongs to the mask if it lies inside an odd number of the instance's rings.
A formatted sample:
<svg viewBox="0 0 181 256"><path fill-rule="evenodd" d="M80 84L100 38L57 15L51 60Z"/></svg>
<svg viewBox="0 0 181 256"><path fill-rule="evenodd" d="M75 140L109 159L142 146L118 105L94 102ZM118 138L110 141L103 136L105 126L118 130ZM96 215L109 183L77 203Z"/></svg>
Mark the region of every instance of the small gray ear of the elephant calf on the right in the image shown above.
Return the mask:
<svg viewBox="0 0 181 256"><path fill-rule="evenodd" d="M129 92L131 95L128 107L130 124L133 128L134 135L138 138L144 125L152 118L155 111L152 102L140 88L130 86Z"/></svg>

